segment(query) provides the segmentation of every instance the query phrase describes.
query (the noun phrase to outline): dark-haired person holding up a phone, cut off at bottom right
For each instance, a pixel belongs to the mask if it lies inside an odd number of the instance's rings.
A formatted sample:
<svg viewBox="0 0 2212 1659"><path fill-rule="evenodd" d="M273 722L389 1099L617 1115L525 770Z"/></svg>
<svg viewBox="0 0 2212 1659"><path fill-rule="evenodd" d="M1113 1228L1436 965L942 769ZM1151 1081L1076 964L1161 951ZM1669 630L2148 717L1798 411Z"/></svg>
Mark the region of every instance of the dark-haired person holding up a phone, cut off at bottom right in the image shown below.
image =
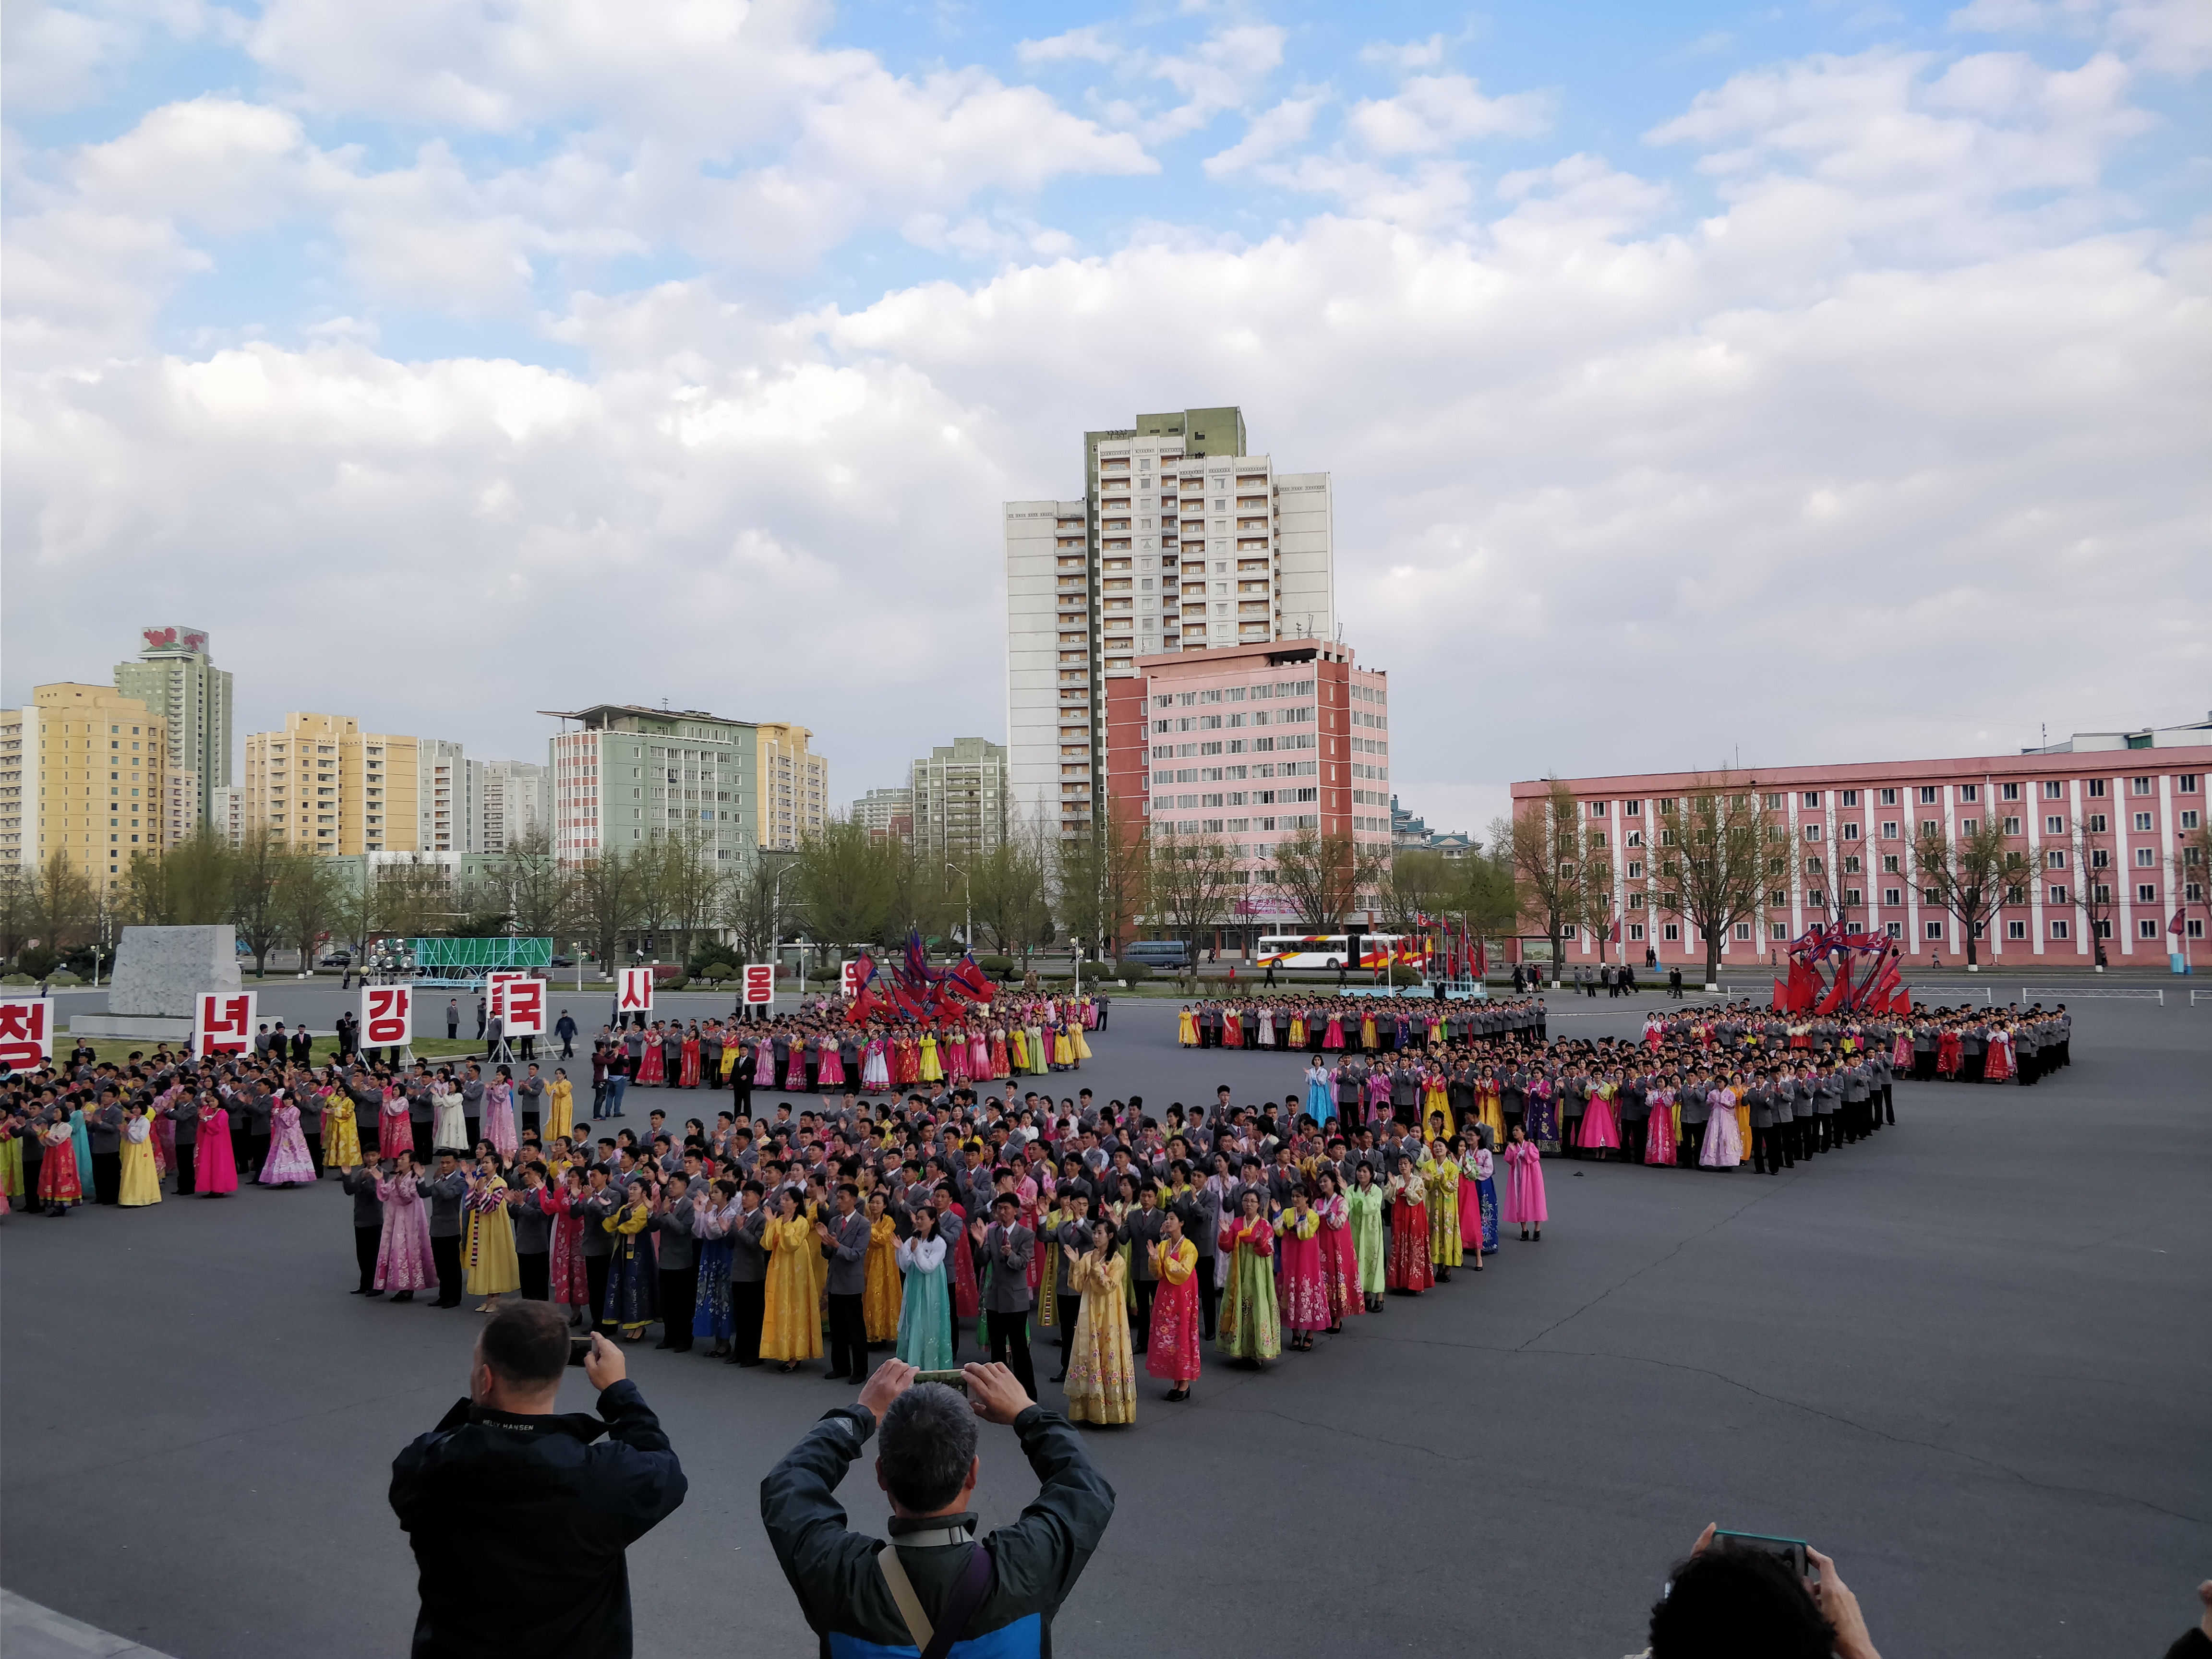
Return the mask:
<svg viewBox="0 0 2212 1659"><path fill-rule="evenodd" d="M1714 1533L1708 1524L1697 1535L1652 1604L1648 1659L1882 1659L1829 1557L1792 1540Z"/></svg>

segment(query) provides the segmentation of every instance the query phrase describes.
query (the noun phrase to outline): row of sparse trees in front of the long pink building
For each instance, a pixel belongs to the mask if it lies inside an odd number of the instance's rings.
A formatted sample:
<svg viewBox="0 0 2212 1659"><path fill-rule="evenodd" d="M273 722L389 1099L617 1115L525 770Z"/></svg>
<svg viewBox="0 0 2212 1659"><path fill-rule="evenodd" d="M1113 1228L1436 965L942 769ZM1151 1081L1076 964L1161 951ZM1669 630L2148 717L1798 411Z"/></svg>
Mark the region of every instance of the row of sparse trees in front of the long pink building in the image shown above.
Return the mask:
<svg viewBox="0 0 2212 1659"><path fill-rule="evenodd" d="M2115 836L2095 818L2070 818L2066 836L2044 838L2028 852L2002 814L1962 814L1955 832L1929 821L1909 841L1900 838L1898 852L1882 854L1874 843L1847 843L1856 852L1792 843L1790 827L1770 816L1756 776L1701 776L1686 796L1657 807L1655 823L1635 832L1641 847L1615 847L1610 836L1628 834L1624 825L1586 818L1559 781L1511 825L1493 825L1493 841L1511 845L1517 931L1548 936L1557 962L1568 927L1606 940L1626 916L1674 918L1697 929L1705 980L1719 982L1721 947L1739 925L1752 925L1759 938L1770 918L1792 914L1794 894L1820 894L1820 914L1856 909L1854 920L1865 922L1865 902L1845 907L1843 891L1858 887L1865 894L1889 883L1916 887L1922 909L1955 916L1969 962L1980 960L1980 942L2004 909L2026 907L2037 896L2079 907L2101 962L2124 883L2135 878L2119 869ZM1896 867L1876 863L1885 858ZM2161 863L2172 878L2170 896L2179 900L2194 889L2201 902L2212 825L2199 825Z"/></svg>

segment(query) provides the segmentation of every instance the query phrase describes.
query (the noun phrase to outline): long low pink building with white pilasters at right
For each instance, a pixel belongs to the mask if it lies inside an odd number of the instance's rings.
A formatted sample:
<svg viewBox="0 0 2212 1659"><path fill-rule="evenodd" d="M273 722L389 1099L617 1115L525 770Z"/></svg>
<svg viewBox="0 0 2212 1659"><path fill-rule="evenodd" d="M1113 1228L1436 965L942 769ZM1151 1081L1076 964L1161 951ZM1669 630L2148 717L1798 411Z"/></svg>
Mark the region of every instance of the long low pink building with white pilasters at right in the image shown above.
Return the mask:
<svg viewBox="0 0 2212 1659"><path fill-rule="evenodd" d="M1962 925L1913 880L1911 847L1927 825L1951 838L1989 818L2002 821L2017 845L2024 880L2013 889L2017 902L1978 940L1984 962L2086 967L2104 933L2115 967L2166 967L2170 953L2192 967L2212 964L2212 872L2201 854L2208 772L2212 717L2079 732L2046 750L1955 761L1559 779L1575 796L1590 856L1610 860L1617 894L1615 927L1568 929L1564 960L1641 964L1646 947L1661 967L1705 960L1697 927L1652 907L1646 872L1663 852L1666 803L1725 776L1759 792L1767 823L1781 832L1776 856L1787 847L1759 920L1736 922L1721 940L1723 964L1745 973L1778 962L1787 940L1838 911L1887 931L1909 962L1927 962L1931 951L1962 962ZM1515 783L1515 816L1540 812L1551 787L1553 779ZM2106 889L2095 907L2084 902L2090 885Z"/></svg>

